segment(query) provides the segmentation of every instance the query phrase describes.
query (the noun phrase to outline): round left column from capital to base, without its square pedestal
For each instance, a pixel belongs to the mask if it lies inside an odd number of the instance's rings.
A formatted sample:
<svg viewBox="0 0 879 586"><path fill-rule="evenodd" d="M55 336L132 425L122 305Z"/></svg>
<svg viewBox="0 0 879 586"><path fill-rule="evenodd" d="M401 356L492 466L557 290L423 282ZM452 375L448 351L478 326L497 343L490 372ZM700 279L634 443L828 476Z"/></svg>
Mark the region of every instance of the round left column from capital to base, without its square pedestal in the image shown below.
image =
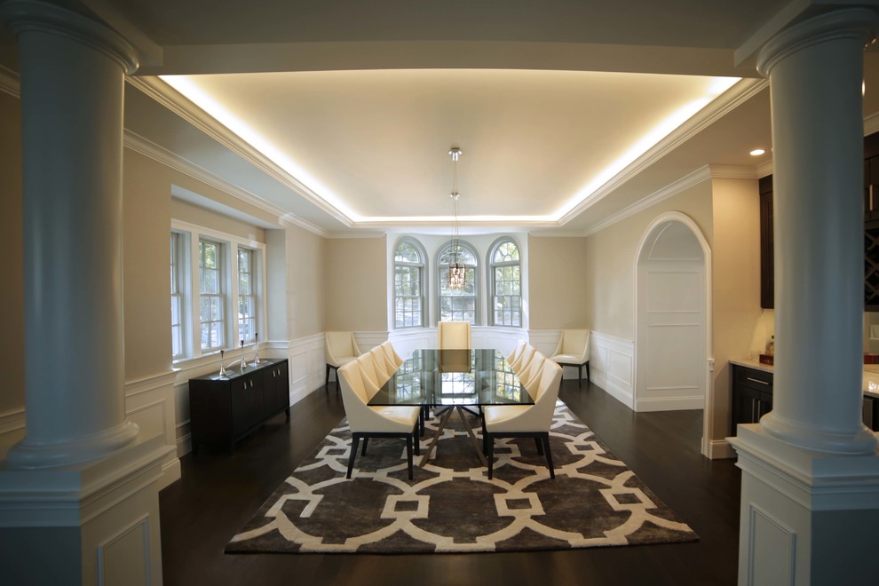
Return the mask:
<svg viewBox="0 0 879 586"><path fill-rule="evenodd" d="M137 59L54 5L2 11L20 48L27 407L7 460L47 468L138 434L124 413L122 308L123 83Z"/></svg>

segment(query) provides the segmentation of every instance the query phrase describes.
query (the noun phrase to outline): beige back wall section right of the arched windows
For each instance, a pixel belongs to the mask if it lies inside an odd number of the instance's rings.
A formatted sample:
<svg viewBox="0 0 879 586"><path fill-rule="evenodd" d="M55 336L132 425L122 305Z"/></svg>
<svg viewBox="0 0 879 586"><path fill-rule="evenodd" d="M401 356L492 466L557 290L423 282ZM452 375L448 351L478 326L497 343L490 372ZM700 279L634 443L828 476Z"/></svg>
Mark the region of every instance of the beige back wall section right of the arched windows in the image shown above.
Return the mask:
<svg viewBox="0 0 879 586"><path fill-rule="evenodd" d="M591 328L585 238L528 236L530 329Z"/></svg>

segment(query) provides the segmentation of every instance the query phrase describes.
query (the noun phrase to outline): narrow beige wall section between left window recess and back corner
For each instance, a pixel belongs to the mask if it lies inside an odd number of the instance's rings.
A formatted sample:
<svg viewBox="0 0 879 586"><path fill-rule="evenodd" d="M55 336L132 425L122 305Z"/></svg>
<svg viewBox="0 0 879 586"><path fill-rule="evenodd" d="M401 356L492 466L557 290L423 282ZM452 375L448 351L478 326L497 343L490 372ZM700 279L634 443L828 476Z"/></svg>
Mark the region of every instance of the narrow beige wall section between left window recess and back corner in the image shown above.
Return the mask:
<svg viewBox="0 0 879 586"><path fill-rule="evenodd" d="M299 226L287 228L287 290L290 339L320 334L328 303L324 284L327 241ZM329 265L331 266L331 265Z"/></svg>

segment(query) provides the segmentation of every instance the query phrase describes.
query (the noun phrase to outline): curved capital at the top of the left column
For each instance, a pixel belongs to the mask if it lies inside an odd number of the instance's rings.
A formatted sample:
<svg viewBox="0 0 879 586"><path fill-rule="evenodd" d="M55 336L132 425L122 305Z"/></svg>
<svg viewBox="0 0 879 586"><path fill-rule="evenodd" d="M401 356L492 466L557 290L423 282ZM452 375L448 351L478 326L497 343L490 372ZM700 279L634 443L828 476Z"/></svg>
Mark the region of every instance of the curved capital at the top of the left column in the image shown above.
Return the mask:
<svg viewBox="0 0 879 586"><path fill-rule="evenodd" d="M114 59L126 75L138 70L137 51L123 36L79 12L40 0L8 0L0 4L0 22L16 37L35 31L67 36Z"/></svg>

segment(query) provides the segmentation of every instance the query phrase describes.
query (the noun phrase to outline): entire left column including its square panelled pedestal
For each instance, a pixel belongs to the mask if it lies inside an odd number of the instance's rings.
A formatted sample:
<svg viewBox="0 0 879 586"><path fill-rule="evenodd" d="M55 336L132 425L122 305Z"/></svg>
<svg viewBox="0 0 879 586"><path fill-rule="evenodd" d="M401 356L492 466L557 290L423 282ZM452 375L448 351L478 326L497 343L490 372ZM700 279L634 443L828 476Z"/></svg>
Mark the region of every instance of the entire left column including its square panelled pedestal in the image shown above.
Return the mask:
<svg viewBox="0 0 879 586"><path fill-rule="evenodd" d="M161 584L157 484L174 448L139 438L124 410L123 83L134 51L58 4L5 2L0 21L20 48L27 379L26 436L0 465L0 580Z"/></svg>

